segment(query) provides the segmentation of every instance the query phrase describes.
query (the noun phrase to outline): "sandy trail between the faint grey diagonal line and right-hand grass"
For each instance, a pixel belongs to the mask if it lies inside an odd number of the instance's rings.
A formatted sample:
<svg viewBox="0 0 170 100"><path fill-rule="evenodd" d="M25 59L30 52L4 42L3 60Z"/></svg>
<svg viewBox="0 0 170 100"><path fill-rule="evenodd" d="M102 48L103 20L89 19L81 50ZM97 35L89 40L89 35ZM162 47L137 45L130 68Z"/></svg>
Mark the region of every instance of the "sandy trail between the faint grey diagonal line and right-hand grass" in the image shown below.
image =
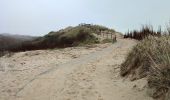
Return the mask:
<svg viewBox="0 0 170 100"><path fill-rule="evenodd" d="M146 80L130 82L119 76L120 64L135 45L117 43L76 58L37 75L20 91L17 100L152 100Z"/></svg>

